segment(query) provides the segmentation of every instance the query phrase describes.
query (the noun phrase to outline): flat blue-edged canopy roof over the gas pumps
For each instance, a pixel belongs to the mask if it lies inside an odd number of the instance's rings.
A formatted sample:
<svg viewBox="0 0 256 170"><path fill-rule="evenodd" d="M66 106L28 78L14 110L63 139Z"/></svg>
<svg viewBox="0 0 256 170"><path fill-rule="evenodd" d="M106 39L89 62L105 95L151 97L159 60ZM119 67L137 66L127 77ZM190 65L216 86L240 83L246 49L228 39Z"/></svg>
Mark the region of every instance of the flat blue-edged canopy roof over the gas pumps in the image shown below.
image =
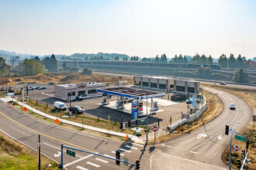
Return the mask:
<svg viewBox="0 0 256 170"><path fill-rule="evenodd" d="M129 97L136 100L163 97L165 95L165 93L155 92L151 90L135 89L130 87L108 87L104 89L97 89L97 91L121 97Z"/></svg>

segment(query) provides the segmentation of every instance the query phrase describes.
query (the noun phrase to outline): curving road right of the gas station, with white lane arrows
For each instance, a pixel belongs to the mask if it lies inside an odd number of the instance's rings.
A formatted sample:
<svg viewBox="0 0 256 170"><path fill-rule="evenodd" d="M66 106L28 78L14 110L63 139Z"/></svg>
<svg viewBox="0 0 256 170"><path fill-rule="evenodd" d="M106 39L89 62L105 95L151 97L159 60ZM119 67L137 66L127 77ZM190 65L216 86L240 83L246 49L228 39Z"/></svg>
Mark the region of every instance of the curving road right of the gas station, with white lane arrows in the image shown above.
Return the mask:
<svg viewBox="0 0 256 170"><path fill-rule="evenodd" d="M222 161L230 140L230 135L225 135L225 125L233 128L240 121L236 131L241 131L250 121L251 109L244 100L230 93L206 87L205 90L217 93L223 100L223 113L190 134L156 145L160 151L150 158L152 169L160 166L162 169L227 169ZM236 105L236 110L230 110L231 103ZM170 164L164 164L167 161Z"/></svg>

